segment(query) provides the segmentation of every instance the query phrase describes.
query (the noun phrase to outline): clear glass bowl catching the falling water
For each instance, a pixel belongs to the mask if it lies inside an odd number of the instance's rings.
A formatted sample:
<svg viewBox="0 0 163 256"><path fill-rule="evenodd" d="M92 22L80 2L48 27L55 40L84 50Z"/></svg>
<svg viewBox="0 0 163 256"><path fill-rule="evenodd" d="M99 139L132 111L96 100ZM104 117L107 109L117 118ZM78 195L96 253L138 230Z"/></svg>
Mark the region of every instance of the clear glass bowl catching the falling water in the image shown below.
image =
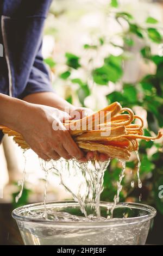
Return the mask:
<svg viewBox="0 0 163 256"><path fill-rule="evenodd" d="M107 216L110 206L101 202L102 217ZM152 206L119 203L112 219L85 221L79 204L72 201L47 203L48 220L40 217L43 212L43 203L12 212L25 245L145 245L156 215ZM54 216L59 216L58 220Z"/></svg>

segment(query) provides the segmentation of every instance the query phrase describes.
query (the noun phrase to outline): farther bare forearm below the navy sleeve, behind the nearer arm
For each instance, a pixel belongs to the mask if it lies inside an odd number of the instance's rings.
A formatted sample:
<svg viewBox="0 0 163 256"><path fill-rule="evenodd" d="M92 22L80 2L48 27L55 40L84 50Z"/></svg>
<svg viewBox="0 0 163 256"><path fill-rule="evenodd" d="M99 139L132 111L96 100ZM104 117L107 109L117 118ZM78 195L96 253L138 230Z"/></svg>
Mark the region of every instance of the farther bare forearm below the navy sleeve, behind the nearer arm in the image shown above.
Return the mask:
<svg viewBox="0 0 163 256"><path fill-rule="evenodd" d="M23 100L30 103L55 107L67 113L75 109L73 105L62 99L59 95L51 92L30 94L24 97Z"/></svg>

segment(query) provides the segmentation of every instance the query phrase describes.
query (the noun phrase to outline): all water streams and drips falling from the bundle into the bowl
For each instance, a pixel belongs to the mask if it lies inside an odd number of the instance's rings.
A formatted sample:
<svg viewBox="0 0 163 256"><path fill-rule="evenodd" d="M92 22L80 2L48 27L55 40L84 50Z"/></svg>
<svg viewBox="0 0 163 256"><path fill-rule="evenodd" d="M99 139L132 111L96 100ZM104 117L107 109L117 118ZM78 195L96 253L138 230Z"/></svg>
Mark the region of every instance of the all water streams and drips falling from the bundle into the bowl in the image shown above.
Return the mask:
<svg viewBox="0 0 163 256"><path fill-rule="evenodd" d="M25 159L23 179L18 182L21 185L21 191L16 197L16 202L20 199L24 187L24 181L26 178L26 155L23 152ZM139 188L142 187L140 180L139 169L140 169L140 158L139 153L136 151L137 166L136 173L138 179ZM44 212L41 216L45 219L51 216L46 208L47 198L47 186L49 172L54 172L60 176L61 185L65 187L66 191L70 192L73 199L79 203L80 210L83 212L87 220L101 220L100 211L100 196L103 191L103 178L106 168L109 166L110 160L101 162L97 160L87 161L86 163L80 163L77 160L65 160L60 159L58 161L50 160L44 161L39 159L40 167L45 173L45 188L44 188ZM122 191L122 180L124 178L126 170L126 162L121 161L122 170L117 181L117 193L114 196L114 203L110 209L108 209L108 217L113 217L114 209L120 200L120 192ZM134 181L131 181L131 187L134 187ZM37 216L38 217L38 216ZM52 216L51 216L52 217ZM63 216L62 216L63 217ZM65 217L66 218L66 217Z"/></svg>

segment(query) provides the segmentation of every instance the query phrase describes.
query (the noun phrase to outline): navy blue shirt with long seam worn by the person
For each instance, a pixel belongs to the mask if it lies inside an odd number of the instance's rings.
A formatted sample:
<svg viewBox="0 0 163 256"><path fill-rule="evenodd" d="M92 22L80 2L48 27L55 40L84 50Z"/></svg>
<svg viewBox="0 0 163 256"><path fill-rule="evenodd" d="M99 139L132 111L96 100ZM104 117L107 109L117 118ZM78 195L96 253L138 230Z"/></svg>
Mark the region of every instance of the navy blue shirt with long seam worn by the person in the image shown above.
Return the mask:
<svg viewBox="0 0 163 256"><path fill-rule="evenodd" d="M4 48L0 93L22 99L32 93L53 92L41 53L42 30L51 2L0 0L0 44Z"/></svg>

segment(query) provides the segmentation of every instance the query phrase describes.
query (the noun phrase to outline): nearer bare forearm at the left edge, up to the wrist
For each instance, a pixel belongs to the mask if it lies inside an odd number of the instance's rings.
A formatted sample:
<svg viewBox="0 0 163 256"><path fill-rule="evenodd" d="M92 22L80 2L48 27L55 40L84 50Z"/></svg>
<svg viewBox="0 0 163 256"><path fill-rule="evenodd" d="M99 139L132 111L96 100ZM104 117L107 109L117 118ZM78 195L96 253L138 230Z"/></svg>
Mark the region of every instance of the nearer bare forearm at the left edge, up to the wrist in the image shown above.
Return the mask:
<svg viewBox="0 0 163 256"><path fill-rule="evenodd" d="M0 125L18 131L27 102L0 93Z"/></svg>

